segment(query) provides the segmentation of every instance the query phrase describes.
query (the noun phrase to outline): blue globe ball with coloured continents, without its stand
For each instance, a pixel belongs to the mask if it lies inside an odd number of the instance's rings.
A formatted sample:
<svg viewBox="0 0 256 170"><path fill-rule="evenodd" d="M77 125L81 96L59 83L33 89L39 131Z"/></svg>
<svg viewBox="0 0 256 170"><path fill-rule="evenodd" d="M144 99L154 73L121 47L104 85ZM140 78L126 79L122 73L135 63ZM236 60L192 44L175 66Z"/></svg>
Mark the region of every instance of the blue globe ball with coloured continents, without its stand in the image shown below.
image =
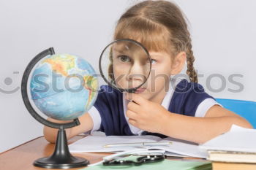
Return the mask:
<svg viewBox="0 0 256 170"><path fill-rule="evenodd" d="M31 99L48 117L72 120L94 104L98 80L92 66L83 58L48 55L34 68L29 82Z"/></svg>

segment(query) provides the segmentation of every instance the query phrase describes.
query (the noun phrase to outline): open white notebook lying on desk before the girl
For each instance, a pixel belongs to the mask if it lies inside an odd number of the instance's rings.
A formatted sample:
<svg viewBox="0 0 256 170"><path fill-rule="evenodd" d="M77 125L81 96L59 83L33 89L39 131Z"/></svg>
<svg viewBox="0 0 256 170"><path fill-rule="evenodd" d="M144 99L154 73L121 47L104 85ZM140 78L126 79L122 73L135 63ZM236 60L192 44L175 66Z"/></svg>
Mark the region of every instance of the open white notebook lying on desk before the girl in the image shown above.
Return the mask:
<svg viewBox="0 0 256 170"><path fill-rule="evenodd" d="M69 144L70 152L120 152L134 150L136 147L103 147L106 144L133 143L133 142L172 142L170 146L147 147L152 150L165 150L167 155L180 157L206 158L206 150L200 149L197 144L181 141L174 138L161 139L157 136L86 136L83 139Z"/></svg>

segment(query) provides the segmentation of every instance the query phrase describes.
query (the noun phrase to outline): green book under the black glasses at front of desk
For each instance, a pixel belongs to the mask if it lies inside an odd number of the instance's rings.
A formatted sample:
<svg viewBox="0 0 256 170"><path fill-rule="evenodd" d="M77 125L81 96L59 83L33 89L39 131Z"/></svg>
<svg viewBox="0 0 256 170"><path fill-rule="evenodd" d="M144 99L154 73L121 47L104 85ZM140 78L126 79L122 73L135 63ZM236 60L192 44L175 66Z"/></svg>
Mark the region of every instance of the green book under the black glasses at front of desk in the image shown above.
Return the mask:
<svg viewBox="0 0 256 170"><path fill-rule="evenodd" d="M138 156L131 155L127 158L122 158L122 160L132 160L135 161ZM103 166L99 164L97 166L86 167L83 170L108 170L108 169L129 169L129 170L211 170L211 162L208 161L172 161L165 159L164 161L157 163L144 163L140 166ZM82 170L82 169L80 169Z"/></svg>

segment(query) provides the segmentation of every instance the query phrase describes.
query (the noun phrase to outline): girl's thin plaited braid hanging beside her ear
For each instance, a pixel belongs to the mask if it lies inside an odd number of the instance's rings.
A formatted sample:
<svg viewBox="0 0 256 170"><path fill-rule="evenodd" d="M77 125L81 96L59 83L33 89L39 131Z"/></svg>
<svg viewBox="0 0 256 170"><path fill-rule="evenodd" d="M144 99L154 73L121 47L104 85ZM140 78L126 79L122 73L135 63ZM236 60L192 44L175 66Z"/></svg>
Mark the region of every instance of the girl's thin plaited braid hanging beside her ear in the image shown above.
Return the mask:
<svg viewBox="0 0 256 170"><path fill-rule="evenodd" d="M189 38L190 39L190 38ZM197 73L195 72L195 68L193 63L195 61L191 39L189 40L188 49L187 49L187 74L189 75L189 79L191 82L198 82Z"/></svg>

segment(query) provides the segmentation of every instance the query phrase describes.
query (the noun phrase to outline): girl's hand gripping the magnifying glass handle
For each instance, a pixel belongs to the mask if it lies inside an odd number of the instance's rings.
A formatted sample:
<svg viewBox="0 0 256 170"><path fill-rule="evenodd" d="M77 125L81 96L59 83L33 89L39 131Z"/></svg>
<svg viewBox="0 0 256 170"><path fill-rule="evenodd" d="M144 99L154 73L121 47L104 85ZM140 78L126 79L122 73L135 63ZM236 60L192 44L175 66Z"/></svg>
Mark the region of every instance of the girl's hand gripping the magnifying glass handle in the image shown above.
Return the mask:
<svg viewBox="0 0 256 170"><path fill-rule="evenodd" d="M162 105L148 101L136 93L129 93L129 95L132 95L132 101L135 101L127 105L126 114L129 117L129 123L144 131L161 133L170 112ZM127 95L126 99L128 99Z"/></svg>

